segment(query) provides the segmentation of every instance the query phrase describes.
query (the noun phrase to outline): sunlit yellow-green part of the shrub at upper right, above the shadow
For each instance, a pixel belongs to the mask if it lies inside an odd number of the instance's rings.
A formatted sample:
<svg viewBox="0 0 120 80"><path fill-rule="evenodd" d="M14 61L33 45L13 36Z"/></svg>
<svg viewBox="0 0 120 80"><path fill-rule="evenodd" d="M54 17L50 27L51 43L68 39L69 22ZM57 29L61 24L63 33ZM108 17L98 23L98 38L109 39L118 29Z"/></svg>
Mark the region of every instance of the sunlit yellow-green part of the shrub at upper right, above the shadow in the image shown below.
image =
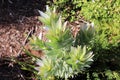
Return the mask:
<svg viewBox="0 0 120 80"><path fill-rule="evenodd" d="M120 1L106 0L84 2L81 13L89 21L94 22L99 28L99 37L104 38L106 46L117 45L120 41ZM90 7L89 7L90 6ZM103 45L103 47L105 46Z"/></svg>

